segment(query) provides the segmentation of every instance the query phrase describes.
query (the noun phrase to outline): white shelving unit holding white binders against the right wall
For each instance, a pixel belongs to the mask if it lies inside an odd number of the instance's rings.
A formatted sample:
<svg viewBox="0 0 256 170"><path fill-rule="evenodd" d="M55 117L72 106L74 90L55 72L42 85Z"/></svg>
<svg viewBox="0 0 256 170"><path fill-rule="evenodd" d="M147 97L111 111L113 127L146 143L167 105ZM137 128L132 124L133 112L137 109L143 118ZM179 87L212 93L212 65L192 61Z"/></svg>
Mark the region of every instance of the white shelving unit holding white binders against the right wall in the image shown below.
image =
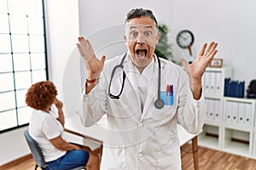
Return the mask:
<svg viewBox="0 0 256 170"><path fill-rule="evenodd" d="M229 77L230 67L207 68L204 74L207 120L198 142L207 148L256 159L256 100L224 97L224 79Z"/></svg>

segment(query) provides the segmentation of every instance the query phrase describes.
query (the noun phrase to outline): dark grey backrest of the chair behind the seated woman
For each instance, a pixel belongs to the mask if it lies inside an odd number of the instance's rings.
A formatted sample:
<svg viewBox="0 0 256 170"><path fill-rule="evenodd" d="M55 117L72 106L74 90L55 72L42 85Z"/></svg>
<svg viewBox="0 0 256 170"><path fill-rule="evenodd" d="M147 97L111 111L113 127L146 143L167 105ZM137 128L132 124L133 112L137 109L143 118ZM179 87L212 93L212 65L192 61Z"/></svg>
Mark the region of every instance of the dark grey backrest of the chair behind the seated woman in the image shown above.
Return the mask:
<svg viewBox="0 0 256 170"><path fill-rule="evenodd" d="M32 139L31 135L28 133L27 130L24 132L24 136L26 138L26 142L29 146L29 149L32 152L33 159L34 161L36 161L38 167L47 167L47 164L44 160L44 155L38 143L34 139Z"/></svg>

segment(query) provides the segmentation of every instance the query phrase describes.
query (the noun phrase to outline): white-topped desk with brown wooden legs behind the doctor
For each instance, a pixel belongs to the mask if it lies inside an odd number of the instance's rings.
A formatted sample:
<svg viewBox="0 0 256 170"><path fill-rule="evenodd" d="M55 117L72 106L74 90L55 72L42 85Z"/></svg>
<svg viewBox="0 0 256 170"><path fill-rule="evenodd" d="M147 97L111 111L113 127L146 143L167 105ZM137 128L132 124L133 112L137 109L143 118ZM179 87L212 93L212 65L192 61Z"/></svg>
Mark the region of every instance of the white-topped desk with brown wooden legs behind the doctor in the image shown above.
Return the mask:
<svg viewBox="0 0 256 170"><path fill-rule="evenodd" d="M75 123L75 124L74 124ZM183 127L177 126L177 134L180 140L180 146L186 144L190 140L192 141L192 152L194 159L195 170L198 170L198 145L197 145L197 135L187 133ZM84 139L90 139L96 142L97 144L103 144L104 136L106 134L106 117L102 117L100 122L97 122L91 127L84 127L82 122L79 119L79 116L69 117L65 121L65 132L73 133L83 137ZM101 147L102 150L102 147Z"/></svg>

